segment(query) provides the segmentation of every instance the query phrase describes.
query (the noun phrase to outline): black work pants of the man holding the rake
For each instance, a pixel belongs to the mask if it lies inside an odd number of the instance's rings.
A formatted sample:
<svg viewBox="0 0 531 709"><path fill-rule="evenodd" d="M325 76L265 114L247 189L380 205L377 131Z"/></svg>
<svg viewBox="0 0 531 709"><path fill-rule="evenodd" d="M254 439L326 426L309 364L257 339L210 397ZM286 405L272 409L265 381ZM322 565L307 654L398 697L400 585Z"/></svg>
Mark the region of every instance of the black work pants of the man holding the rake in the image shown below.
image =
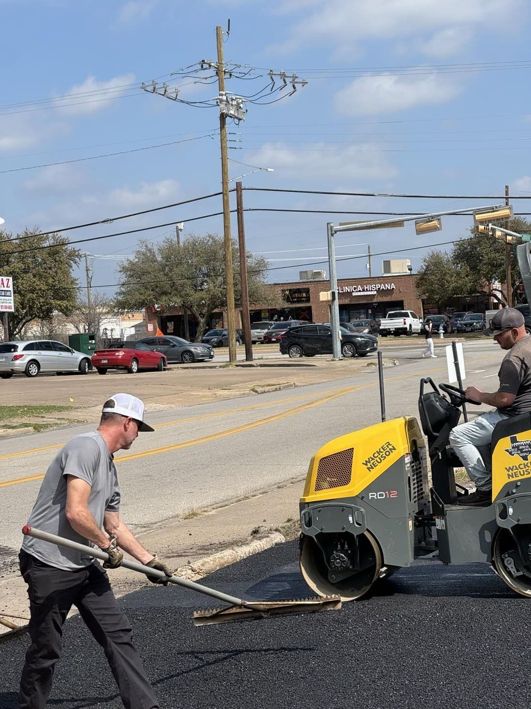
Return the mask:
<svg viewBox="0 0 531 709"><path fill-rule="evenodd" d="M92 635L103 647L122 702L127 709L158 709L152 686L132 644L132 630L100 564L65 571L24 551L18 556L30 597L31 644L25 655L20 709L44 709L61 657L62 625L76 605Z"/></svg>

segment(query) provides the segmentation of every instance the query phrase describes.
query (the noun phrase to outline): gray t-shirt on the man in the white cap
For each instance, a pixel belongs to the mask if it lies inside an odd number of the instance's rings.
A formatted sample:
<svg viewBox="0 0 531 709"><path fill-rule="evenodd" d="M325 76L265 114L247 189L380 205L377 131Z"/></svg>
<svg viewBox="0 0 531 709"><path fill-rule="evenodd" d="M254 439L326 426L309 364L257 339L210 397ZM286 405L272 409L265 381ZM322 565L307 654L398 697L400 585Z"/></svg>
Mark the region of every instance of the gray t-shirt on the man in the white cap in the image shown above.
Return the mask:
<svg viewBox="0 0 531 709"><path fill-rule="evenodd" d="M86 481L91 486L89 510L98 527L103 527L106 510L120 509L118 477L107 444L97 432L83 433L70 440L52 460L42 480L37 501L28 525L35 529L66 537L79 544L93 546L89 540L74 532L67 520L67 475ZM22 548L41 562L57 569L84 569L94 562L92 557L64 547L24 537Z"/></svg>

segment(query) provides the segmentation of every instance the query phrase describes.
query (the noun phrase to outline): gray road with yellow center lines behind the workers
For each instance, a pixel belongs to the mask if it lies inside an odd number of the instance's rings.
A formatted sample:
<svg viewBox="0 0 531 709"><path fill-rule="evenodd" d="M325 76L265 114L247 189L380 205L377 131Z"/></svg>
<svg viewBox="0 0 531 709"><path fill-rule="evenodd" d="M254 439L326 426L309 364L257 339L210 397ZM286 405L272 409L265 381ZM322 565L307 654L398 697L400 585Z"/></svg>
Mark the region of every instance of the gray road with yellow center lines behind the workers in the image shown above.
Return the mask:
<svg viewBox="0 0 531 709"><path fill-rule="evenodd" d="M503 357L498 345L479 340L465 343L464 351L467 384L496 389ZM384 370L388 419L418 415L421 376L447 380L444 357L421 359L418 352L393 348L399 366ZM130 451L116 455L122 517L144 530L190 510L302 480L321 445L379 418L376 368L348 379L152 413L155 432L139 435ZM50 461L70 437L91 429L79 425L2 441L0 570L16 564L20 530Z"/></svg>

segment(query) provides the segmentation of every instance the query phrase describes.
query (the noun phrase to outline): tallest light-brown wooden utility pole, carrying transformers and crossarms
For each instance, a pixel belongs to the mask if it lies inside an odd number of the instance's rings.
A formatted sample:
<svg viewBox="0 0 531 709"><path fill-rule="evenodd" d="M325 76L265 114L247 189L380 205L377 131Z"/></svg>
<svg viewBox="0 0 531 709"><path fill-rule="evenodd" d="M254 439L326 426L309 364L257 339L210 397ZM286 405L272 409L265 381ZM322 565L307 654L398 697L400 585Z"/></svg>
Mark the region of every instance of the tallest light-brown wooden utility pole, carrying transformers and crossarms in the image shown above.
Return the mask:
<svg viewBox="0 0 531 709"><path fill-rule="evenodd" d="M216 28L217 40L217 84L219 96L225 93L225 70L223 62L223 30ZM223 240L225 246L225 271L227 280L227 325L229 330L229 362L236 362L236 323L234 321L234 271L232 269L231 214L229 199L229 155L227 152L227 114L219 106L219 139L222 158L223 190Z"/></svg>

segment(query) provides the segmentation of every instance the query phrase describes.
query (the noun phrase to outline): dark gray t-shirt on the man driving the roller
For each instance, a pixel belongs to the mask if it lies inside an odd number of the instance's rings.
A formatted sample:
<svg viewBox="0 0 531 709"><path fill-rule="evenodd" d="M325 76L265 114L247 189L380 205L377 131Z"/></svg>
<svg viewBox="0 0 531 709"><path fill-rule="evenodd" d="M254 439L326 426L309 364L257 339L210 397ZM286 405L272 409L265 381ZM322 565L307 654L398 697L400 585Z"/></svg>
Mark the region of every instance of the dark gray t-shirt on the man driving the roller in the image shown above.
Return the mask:
<svg viewBox="0 0 531 709"><path fill-rule="evenodd" d="M531 411L531 337L529 335L518 340L503 357L498 376L500 378L498 391L516 394L510 406L499 408L498 411L508 416L518 416L520 413Z"/></svg>

